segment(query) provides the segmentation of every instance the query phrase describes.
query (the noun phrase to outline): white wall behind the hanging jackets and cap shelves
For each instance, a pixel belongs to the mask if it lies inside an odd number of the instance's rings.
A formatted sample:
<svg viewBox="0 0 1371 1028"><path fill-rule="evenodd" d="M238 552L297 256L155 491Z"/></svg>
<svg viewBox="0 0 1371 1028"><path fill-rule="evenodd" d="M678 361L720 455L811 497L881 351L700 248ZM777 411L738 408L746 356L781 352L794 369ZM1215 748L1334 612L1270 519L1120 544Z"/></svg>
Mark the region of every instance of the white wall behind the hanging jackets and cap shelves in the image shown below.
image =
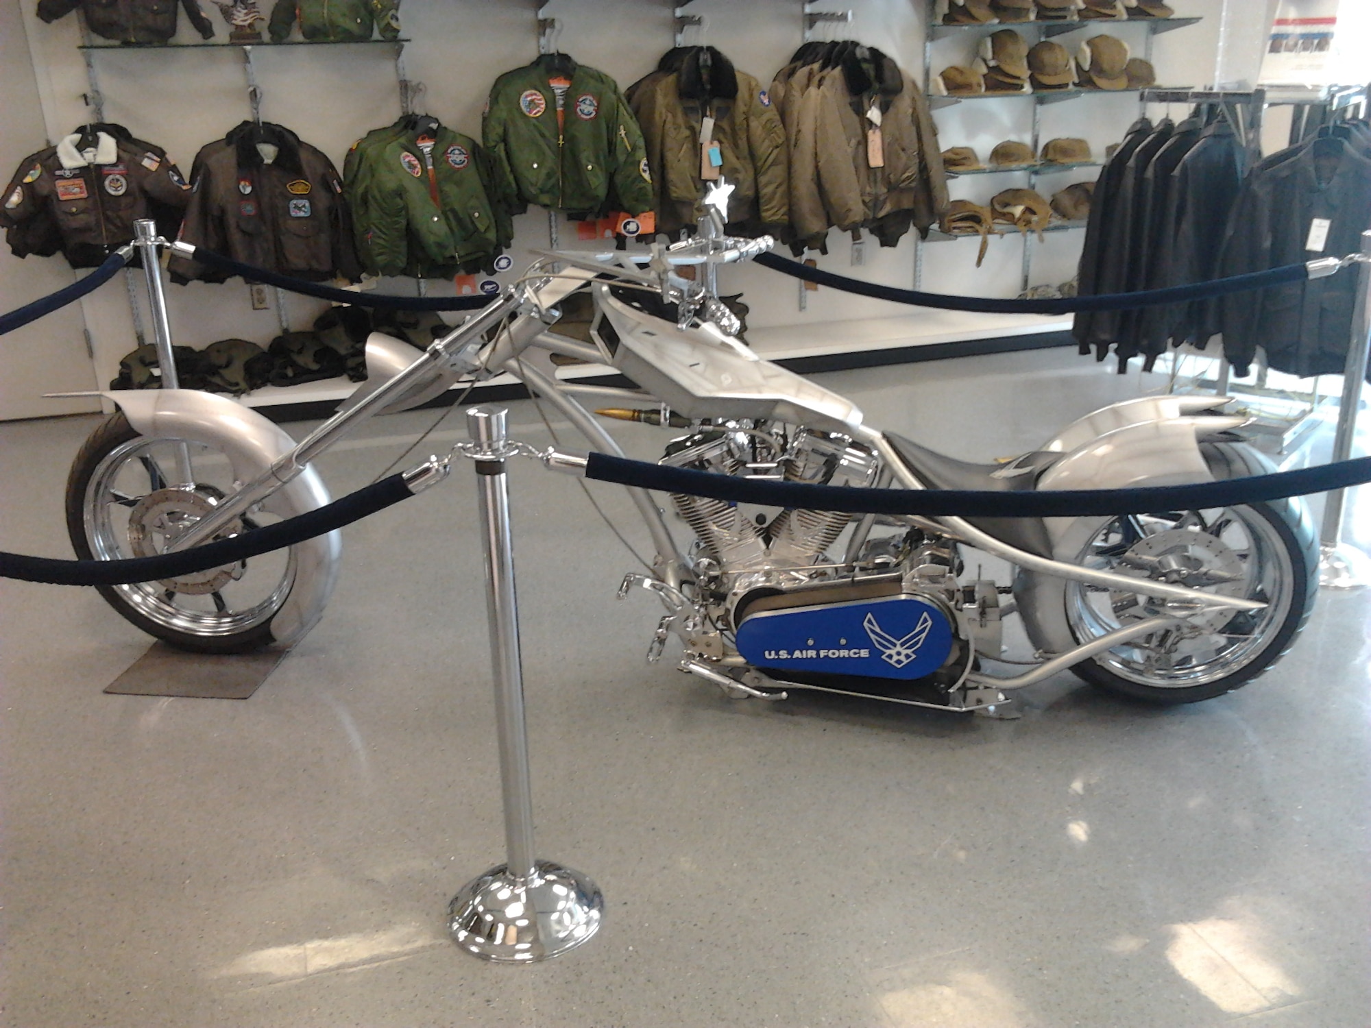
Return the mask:
<svg viewBox="0 0 1371 1028"><path fill-rule="evenodd" d="M263 10L269 11L273 1L263 0ZM89 119L89 108L82 101L88 86L77 51L80 32L75 18L44 25L33 14L36 0L12 3L22 5L33 74L26 67L26 55L18 55L18 60L11 58L12 40L22 33L11 32L18 26L14 25L14 8L8 5L3 74L21 79L27 77L30 85L26 90L10 89L10 114L0 136L0 171L8 171L25 154ZM210 7L208 3L204 5ZM673 5L672 0L553 0L550 12L562 25L561 49L628 85L654 67L658 56L672 45ZM1174 0L1174 5L1178 14L1201 14L1206 21L1157 37L1156 63L1161 81L1197 85L1213 81L1217 15L1223 0ZM802 41L801 7L801 0L695 0L690 10L706 18L705 41L724 49L742 70L769 82ZM923 81L924 0L835 0L831 7L850 7L853 23L836 29L820 27L820 36L860 38L879 47ZM404 60L410 78L426 86L421 108L461 132L478 136L480 111L489 84L502 71L526 63L537 52L535 10L532 0L404 0L403 34L413 40L406 47ZM222 22L213 10L211 16L219 29L217 38L222 41ZM1091 26L1068 38L1104 30ZM1130 42L1137 41L1141 51L1143 29L1123 25L1108 30L1117 32ZM197 38L182 19L177 41L195 42ZM932 48L934 69L964 60L967 55L956 52L958 45L967 44L939 41ZM395 67L388 47L262 45L254 53L263 92L263 118L298 132L339 166L356 137L389 123L399 114ZM250 114L243 56L237 48L114 49L95 55L95 62L106 99L106 117L126 125L136 136L166 147L184 171L189 171L195 152L204 143L222 136ZM1002 138L1027 138L1030 107L1028 100L995 99L939 111L942 145L969 144L986 156L990 147ZM1102 152L1104 145L1117 140L1137 114L1138 104L1130 97L1091 96L1049 106L1043 108L1042 138L1084 136ZM1041 188L1050 192L1073 177L1087 178L1090 174L1045 180ZM953 195L987 199L998 189L1017 184L1012 175L967 177L954 182ZM574 228L563 226L561 236L563 245L573 241ZM1071 278L1080 236L1079 232L1050 236L1038 248L1034 281ZM517 222L515 269L524 252L546 245L547 215L542 211L522 215ZM1017 238L994 241L980 270L973 267L975 243L927 247L923 285L939 292L1012 296L1020 288L1020 245ZM851 270L846 236L832 233L829 251L827 258L820 258L821 267L840 273ZM856 274L898 286L913 285L914 245L910 237L894 249L882 249L869 240L865 251L865 266ZM44 282L48 278L67 281L69 274L60 258L19 262L5 252L0 255L0 302L5 307L16 306L49 291L38 277L45 277ZM753 308L751 323L758 328L909 313L906 307L823 289L809 293L808 311L801 314L797 284L757 267L725 269L721 284L725 289L746 292ZM414 286L393 284L387 288L407 292ZM429 286L430 293L451 289L447 282ZM170 296L178 343L204 345L226 336L266 343L280 330L277 313L251 310L248 289L237 281L174 286ZM319 308L321 304L303 297L288 302L289 319L298 326L306 326ZM107 381L117 371L119 356L134 345L126 293L118 284L111 284L84 302L82 313L95 340L95 378ZM60 323L69 322L70 318ZM48 326L58 323L51 318L47 322ZM70 329L62 332L70 334ZM23 376L19 392L40 392L37 380L30 382L30 378L32 374ZM84 385L89 384L89 373L86 380ZM0 397L0 417L29 414L29 408L12 402L8 393Z"/></svg>

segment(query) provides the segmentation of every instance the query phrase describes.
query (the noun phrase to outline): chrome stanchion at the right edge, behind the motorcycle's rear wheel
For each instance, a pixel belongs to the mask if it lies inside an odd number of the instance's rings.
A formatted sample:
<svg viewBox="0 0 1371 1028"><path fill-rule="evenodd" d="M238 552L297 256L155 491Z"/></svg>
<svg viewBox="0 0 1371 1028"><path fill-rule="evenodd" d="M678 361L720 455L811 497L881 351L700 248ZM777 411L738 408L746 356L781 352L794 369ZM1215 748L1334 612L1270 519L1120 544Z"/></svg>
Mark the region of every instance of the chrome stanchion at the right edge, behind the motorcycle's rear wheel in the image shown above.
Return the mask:
<svg viewBox="0 0 1371 1028"><path fill-rule="evenodd" d="M1361 382L1367 376L1371 350L1371 232L1361 233L1360 288L1352 318L1348 363L1342 370L1342 399L1338 404L1338 429L1333 439L1333 459L1352 456L1357 435L1357 410L1361 406ZM1342 541L1342 515L1346 489L1334 489L1324 499L1323 530L1319 533L1319 585L1326 589L1359 589L1371 584L1371 558Z"/></svg>

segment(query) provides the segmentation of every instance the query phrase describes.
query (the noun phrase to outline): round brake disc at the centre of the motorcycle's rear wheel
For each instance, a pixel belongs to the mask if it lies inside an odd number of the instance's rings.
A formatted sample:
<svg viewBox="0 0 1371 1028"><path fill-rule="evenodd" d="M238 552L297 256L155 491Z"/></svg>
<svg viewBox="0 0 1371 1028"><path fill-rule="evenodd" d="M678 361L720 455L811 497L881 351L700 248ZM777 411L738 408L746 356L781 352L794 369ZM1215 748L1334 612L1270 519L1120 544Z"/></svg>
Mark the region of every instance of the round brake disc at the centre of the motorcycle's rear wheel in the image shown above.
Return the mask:
<svg viewBox="0 0 1371 1028"><path fill-rule="evenodd" d="M1138 573L1174 585L1204 587L1220 596L1242 596L1246 569L1242 559L1217 536L1183 528L1167 529L1134 543L1121 558L1124 573ZM1138 572L1143 567L1146 570ZM1137 592L1111 589L1115 614L1123 622L1150 617L1152 607L1165 603L1146 596L1139 583ZM1217 632L1233 620L1233 610L1205 610L1189 614L1186 624L1205 632Z"/></svg>

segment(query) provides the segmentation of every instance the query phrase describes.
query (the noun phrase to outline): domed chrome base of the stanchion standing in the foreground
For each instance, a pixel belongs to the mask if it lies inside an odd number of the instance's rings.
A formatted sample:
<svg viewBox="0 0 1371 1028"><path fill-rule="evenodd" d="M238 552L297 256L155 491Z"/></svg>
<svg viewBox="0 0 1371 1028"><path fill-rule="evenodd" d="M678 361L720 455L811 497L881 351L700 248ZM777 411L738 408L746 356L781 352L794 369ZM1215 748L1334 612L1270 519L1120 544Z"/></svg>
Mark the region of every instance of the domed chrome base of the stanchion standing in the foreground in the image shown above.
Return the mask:
<svg viewBox="0 0 1371 1028"><path fill-rule="evenodd" d="M447 907L452 942L500 964L532 964L573 950L599 929L605 896L580 872L537 861L532 879L502 864L462 887Z"/></svg>

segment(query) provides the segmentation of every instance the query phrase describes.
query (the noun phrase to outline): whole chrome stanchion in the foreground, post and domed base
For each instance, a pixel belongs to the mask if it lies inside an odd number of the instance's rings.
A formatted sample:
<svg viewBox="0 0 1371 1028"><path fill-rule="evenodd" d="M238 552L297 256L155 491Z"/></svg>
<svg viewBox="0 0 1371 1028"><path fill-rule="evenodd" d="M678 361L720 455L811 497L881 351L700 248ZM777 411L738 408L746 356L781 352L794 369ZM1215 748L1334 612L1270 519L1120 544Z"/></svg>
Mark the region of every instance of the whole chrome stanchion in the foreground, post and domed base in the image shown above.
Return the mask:
<svg viewBox="0 0 1371 1028"><path fill-rule="evenodd" d="M466 426L472 445L465 452L476 462L481 493L507 861L469 881L452 898L448 932L458 946L483 959L531 964L557 957L595 935L605 899L584 874L533 855L533 799L505 467L515 450L506 435L502 407L470 408Z"/></svg>

